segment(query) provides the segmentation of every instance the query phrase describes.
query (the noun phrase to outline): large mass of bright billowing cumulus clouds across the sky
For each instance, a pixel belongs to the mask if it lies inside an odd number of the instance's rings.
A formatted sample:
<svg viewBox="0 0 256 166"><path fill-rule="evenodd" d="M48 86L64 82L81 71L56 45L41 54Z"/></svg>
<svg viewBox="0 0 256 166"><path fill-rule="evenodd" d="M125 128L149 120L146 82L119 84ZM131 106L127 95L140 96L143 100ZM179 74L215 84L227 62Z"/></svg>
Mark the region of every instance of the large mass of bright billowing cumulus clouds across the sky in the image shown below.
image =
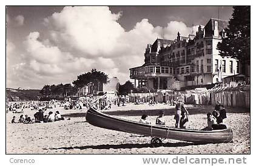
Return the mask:
<svg viewBox="0 0 256 166"><path fill-rule="evenodd" d="M53 13L44 19L44 36L31 32L25 38L23 61L13 66L13 78L20 78L24 86L33 82L35 88L41 88L70 83L96 68L118 76L124 84L129 80L129 68L143 65L147 44L163 35L165 39L175 39L178 32L187 36L196 28L181 21L153 27L145 18L126 32L118 23L120 17L121 12L111 13L109 7L64 7Z"/></svg>

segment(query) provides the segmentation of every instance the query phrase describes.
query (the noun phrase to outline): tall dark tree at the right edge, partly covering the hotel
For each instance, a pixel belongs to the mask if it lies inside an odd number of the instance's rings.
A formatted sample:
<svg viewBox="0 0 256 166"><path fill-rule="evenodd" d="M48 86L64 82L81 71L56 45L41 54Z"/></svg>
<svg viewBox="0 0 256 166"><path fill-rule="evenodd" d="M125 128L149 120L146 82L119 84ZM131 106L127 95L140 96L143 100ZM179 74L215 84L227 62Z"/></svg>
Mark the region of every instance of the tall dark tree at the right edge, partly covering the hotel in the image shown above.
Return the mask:
<svg viewBox="0 0 256 166"><path fill-rule="evenodd" d="M241 73L245 74L246 64L251 59L251 8L250 6L234 6L229 25L224 29L226 38L222 38L217 49L221 56L238 59L241 63Z"/></svg>

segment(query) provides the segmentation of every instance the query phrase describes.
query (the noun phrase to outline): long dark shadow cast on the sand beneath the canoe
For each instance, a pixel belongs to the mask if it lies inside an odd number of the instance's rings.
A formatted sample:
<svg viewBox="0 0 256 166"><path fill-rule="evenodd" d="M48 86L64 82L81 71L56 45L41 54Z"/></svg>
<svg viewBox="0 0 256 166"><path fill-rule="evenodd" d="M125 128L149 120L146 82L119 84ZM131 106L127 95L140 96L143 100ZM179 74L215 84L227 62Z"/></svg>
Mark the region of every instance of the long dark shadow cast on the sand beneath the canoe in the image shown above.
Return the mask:
<svg viewBox="0 0 256 166"><path fill-rule="evenodd" d="M162 147L186 147L186 146L190 146L190 145L199 145L199 144L194 144L192 142L175 142L175 143L167 142L167 143L163 143ZM200 144L200 145L204 145L204 144ZM120 149L120 148L148 148L148 147L152 147L151 144L87 145L87 146L83 146L83 147L59 147L59 148L49 148L49 149L44 149L44 150L60 150L60 149L71 150L71 149L75 149L75 148L78 148L79 150L84 150L87 148Z"/></svg>

